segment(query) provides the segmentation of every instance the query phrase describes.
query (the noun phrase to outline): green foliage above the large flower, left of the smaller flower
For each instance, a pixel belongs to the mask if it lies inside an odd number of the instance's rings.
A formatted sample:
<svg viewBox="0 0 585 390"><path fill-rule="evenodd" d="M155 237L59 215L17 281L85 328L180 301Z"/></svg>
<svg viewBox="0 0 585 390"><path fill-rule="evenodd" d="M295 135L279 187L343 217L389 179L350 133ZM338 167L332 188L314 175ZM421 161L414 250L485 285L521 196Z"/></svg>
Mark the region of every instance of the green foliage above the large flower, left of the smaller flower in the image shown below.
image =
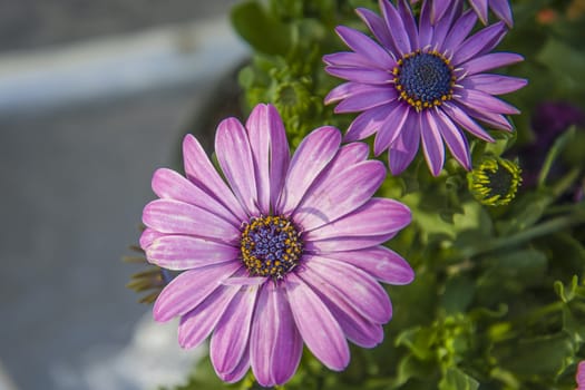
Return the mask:
<svg viewBox="0 0 585 390"><path fill-rule="evenodd" d="M251 64L240 72L245 110L272 103L281 113L292 146L312 129L350 119L323 105L337 80L323 70L322 57L341 49L334 27L351 19L355 7L374 1L246 1L232 10L236 31L252 46Z"/></svg>

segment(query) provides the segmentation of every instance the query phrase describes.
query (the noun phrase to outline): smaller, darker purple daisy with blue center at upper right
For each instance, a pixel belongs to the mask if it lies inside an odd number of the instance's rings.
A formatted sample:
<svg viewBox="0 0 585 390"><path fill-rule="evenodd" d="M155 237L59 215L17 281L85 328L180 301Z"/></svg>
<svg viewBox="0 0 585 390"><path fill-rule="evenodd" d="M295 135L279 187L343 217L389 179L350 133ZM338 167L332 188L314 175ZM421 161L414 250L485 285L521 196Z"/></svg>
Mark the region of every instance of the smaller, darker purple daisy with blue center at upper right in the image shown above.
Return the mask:
<svg viewBox="0 0 585 390"><path fill-rule="evenodd" d="M374 154L389 150L392 174L400 174L412 162L419 143L427 164L438 175L445 160L443 142L451 155L470 169L467 138L494 142L476 121L511 131L505 115L519 111L494 97L515 91L526 80L485 74L523 60L510 52L490 52L506 33L497 22L467 37L477 22L472 10L462 12L454 1L442 18L431 23L430 3L423 2L417 21L407 0L394 7L380 0L382 17L358 9L376 39L340 26L338 35L353 51L323 57L325 70L348 80L325 97L337 103L335 113L360 113L344 140L377 134Z"/></svg>

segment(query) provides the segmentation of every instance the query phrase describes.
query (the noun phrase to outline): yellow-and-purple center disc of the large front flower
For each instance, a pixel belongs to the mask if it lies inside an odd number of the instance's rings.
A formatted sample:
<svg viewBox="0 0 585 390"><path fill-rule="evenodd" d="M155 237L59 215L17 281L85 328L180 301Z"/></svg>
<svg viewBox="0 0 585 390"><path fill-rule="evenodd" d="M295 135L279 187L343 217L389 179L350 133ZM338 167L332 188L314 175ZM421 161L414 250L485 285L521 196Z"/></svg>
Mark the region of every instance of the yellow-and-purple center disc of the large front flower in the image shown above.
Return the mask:
<svg viewBox="0 0 585 390"><path fill-rule="evenodd" d="M242 227L242 261L251 275L282 279L299 263L303 244L286 217L252 217Z"/></svg>

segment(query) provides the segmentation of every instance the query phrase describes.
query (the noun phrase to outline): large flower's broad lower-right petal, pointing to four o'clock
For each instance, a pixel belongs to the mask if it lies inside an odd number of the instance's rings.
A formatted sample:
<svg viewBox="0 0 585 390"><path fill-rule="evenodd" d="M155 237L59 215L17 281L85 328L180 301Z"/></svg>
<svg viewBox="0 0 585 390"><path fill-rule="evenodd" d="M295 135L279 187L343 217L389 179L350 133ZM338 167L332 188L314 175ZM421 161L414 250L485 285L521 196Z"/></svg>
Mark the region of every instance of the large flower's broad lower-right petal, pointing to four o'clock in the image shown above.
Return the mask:
<svg viewBox="0 0 585 390"><path fill-rule="evenodd" d="M344 311L353 309L369 321L380 324L392 316L384 289L376 279L351 264L306 256L299 276Z"/></svg>

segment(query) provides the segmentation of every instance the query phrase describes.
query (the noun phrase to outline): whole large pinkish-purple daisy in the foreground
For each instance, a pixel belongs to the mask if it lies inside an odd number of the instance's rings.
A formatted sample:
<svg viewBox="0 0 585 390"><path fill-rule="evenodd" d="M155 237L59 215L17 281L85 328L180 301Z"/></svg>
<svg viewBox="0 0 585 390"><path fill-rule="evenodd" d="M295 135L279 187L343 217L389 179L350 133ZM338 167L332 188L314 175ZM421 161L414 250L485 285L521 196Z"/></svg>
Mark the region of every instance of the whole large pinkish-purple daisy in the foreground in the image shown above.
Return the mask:
<svg viewBox="0 0 585 390"><path fill-rule="evenodd" d="M399 202L372 198L386 176L368 146L340 146L321 127L290 158L279 113L259 105L245 127L223 120L215 152L183 144L186 178L158 169L160 199L143 215L149 262L184 271L158 296L157 321L181 316L184 348L209 334L217 374L240 380L251 367L262 386L286 382L303 342L332 370L349 362L347 339L374 347L392 315L379 281L406 284L413 272L381 244L410 223ZM227 183L226 183L227 182Z"/></svg>

